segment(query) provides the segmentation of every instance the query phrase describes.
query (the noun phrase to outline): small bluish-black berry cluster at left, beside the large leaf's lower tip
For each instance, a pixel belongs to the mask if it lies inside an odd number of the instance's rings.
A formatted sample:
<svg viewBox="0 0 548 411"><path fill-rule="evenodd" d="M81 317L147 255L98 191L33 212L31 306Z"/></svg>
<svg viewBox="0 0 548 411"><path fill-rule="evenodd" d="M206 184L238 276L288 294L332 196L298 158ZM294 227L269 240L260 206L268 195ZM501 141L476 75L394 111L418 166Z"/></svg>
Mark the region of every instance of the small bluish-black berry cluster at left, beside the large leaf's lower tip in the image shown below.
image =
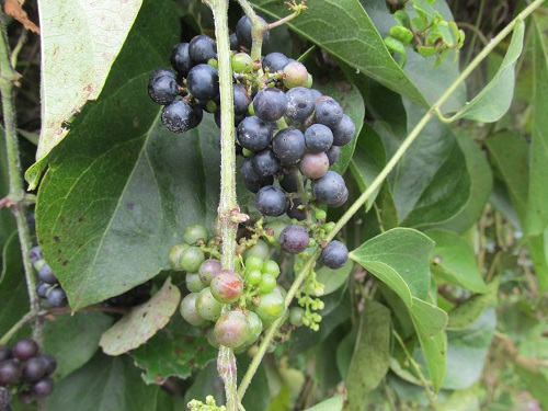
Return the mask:
<svg viewBox="0 0 548 411"><path fill-rule="evenodd" d="M38 297L46 300L49 307L66 307L68 304L67 294L60 286L49 264L42 256L39 247L33 247L28 252L28 258L38 273L38 283L36 285Z"/></svg>

